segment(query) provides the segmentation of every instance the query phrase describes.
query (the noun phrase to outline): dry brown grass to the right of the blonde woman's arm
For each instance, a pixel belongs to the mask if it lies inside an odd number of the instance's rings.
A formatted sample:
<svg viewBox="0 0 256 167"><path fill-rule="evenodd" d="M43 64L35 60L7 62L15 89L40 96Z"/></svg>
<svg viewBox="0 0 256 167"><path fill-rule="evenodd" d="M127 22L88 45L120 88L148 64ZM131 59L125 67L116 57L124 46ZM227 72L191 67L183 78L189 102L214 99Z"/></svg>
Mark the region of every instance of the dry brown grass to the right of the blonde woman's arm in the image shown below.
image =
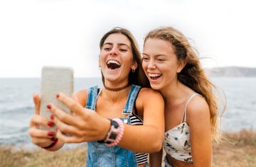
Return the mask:
<svg viewBox="0 0 256 167"><path fill-rule="evenodd" d="M256 132L252 129L225 133L225 141L213 145L214 167L256 166Z"/></svg>

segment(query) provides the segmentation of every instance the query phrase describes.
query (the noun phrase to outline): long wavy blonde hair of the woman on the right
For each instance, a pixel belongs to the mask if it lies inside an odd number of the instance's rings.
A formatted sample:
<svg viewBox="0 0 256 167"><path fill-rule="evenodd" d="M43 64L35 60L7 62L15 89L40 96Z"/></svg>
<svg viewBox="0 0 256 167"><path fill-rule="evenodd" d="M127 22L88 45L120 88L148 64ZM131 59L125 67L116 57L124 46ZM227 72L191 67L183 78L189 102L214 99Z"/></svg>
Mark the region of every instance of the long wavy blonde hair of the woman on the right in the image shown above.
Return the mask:
<svg viewBox="0 0 256 167"><path fill-rule="evenodd" d="M221 118L225 107L218 108L216 94L217 87L208 79L201 67L198 52L188 42L187 38L178 30L171 27L161 27L151 30L144 38L144 44L148 39L160 39L170 42L178 61L185 60L186 66L178 73L178 81L200 93L208 103L210 109L210 130L212 137L218 142L220 129L218 129L218 118ZM220 113L220 117L218 117Z"/></svg>

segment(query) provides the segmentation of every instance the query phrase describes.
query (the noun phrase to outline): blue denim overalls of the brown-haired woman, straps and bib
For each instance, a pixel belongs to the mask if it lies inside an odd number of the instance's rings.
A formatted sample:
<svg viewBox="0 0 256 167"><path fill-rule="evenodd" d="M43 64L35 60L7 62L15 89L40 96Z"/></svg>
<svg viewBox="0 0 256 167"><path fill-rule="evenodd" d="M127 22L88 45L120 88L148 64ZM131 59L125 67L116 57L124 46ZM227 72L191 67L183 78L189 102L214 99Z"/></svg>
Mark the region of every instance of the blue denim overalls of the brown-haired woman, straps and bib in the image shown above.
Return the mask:
<svg viewBox="0 0 256 167"><path fill-rule="evenodd" d="M120 118L123 122L130 124L131 120L129 115L132 114L134 108L134 102L139 93L140 86L132 85L129 91L127 103L125 104L122 114L127 114L127 117ZM88 96L86 108L95 110L97 95L99 89L97 86L88 88ZM135 167L137 166L137 160L135 153L127 149L123 149L119 146L106 146L104 143L99 142L87 142L87 167Z"/></svg>

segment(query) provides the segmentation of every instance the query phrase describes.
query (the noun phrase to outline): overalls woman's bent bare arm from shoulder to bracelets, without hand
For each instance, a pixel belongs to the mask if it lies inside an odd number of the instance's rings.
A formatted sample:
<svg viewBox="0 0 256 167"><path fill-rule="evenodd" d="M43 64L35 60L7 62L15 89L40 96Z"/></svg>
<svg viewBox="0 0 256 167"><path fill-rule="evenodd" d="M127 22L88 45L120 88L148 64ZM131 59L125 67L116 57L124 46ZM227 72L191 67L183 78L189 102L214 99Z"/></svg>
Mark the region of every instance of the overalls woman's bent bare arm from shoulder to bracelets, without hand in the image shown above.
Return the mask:
<svg viewBox="0 0 256 167"><path fill-rule="evenodd" d="M137 98L137 110L143 110L144 125L124 125L119 146L135 152L156 152L164 137L164 100L161 94L142 88Z"/></svg>

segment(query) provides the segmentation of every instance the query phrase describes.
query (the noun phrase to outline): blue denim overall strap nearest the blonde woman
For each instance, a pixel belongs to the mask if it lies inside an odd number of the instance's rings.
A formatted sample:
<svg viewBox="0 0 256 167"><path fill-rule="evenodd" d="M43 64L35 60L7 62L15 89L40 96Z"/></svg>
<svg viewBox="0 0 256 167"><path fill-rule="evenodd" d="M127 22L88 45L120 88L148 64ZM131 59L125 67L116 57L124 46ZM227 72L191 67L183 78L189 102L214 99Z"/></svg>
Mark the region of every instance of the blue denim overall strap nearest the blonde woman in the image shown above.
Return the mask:
<svg viewBox="0 0 256 167"><path fill-rule="evenodd" d="M132 84L132 88L129 91L127 103L124 106L124 110L122 110L122 114L129 114L129 115L132 114L132 110L134 108L134 102L138 96L140 88L141 88L141 86Z"/></svg>

